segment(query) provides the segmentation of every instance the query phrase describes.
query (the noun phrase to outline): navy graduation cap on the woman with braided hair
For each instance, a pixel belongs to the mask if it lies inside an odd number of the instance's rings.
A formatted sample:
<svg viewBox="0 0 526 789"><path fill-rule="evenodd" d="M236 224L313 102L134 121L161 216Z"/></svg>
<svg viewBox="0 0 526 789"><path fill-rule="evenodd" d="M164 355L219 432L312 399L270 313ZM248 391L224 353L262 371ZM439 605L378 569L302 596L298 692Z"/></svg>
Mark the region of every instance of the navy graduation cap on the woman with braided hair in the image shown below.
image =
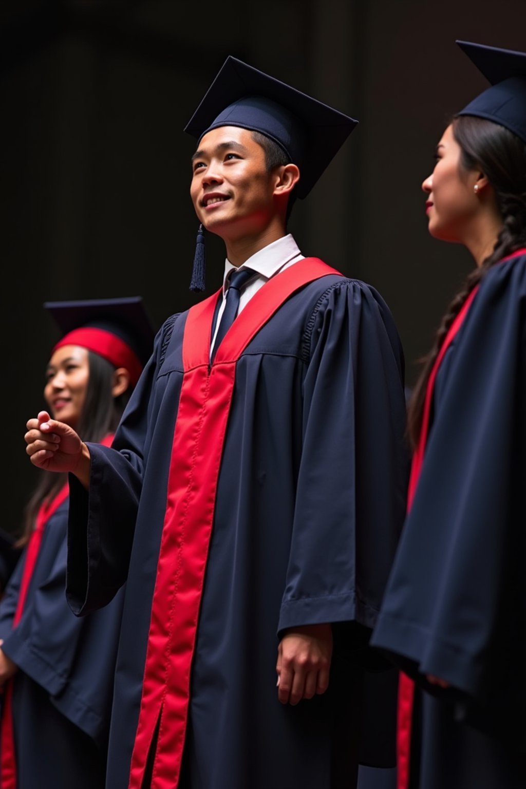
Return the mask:
<svg viewBox="0 0 526 789"><path fill-rule="evenodd" d="M456 42L461 50L491 82L457 115L486 118L526 143L526 53L486 47L470 41Z"/></svg>

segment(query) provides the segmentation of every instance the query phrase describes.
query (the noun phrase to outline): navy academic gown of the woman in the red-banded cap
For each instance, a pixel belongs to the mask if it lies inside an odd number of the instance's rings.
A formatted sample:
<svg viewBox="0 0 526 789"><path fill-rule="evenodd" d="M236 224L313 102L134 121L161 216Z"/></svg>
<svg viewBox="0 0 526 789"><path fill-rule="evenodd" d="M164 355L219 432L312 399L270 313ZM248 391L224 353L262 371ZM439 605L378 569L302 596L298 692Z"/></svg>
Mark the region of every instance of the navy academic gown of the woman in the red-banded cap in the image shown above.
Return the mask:
<svg viewBox="0 0 526 789"><path fill-rule="evenodd" d="M124 590L87 619L73 615L65 599L67 520L65 499L43 530L16 627L27 549L0 602L2 649L19 669L9 681L16 789L102 789L105 783Z"/></svg>

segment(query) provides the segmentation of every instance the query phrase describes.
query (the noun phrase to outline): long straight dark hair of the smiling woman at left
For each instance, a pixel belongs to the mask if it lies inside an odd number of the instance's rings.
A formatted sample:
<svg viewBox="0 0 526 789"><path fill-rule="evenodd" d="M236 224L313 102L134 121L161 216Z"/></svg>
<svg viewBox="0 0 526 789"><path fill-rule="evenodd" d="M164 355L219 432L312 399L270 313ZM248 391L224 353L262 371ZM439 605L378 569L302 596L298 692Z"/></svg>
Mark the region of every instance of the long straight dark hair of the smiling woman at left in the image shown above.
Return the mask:
<svg viewBox="0 0 526 789"><path fill-rule="evenodd" d="M88 350L88 366L88 387L76 432L83 441L96 442L116 430L132 387L114 398L111 393L115 372L114 365L99 356L99 353ZM28 542L35 528L35 519L40 505L54 499L66 480L67 474L64 473L40 472L39 481L24 509L22 533L17 546L21 547Z"/></svg>

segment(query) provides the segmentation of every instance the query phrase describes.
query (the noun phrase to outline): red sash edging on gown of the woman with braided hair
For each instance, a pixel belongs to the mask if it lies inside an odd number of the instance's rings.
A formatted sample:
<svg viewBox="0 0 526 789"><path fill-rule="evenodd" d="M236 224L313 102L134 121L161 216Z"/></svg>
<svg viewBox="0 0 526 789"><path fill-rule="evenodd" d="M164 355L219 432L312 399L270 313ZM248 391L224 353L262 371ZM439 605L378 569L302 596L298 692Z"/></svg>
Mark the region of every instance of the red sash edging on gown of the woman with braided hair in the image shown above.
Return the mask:
<svg viewBox="0 0 526 789"><path fill-rule="evenodd" d="M517 249L511 255L506 256L499 261L499 264L505 263L506 260L511 260L514 257L526 254L526 248ZM413 499L415 498L416 486L420 477L420 472L423 466L423 454L426 449L427 435L429 432L429 419L431 416L431 403L433 402L433 391L435 389L435 380L438 373L438 368L442 364L442 359L446 350L450 347L453 339L456 337L458 331L464 322L465 316L472 305L472 301L479 290L477 285L469 294L461 310L458 312L457 317L453 320L450 330L446 335L446 339L442 343L442 347L438 352L435 360L435 365L431 369L429 380L427 381L426 397L423 405L422 427L420 428L420 436L418 446L412 456L411 475L409 477L408 485L408 503L407 511L412 507ZM399 686L398 686L398 709L397 709L397 789L408 789L410 777L410 760L411 760L411 726L412 726L412 707L415 695L415 684L408 675L400 672Z"/></svg>

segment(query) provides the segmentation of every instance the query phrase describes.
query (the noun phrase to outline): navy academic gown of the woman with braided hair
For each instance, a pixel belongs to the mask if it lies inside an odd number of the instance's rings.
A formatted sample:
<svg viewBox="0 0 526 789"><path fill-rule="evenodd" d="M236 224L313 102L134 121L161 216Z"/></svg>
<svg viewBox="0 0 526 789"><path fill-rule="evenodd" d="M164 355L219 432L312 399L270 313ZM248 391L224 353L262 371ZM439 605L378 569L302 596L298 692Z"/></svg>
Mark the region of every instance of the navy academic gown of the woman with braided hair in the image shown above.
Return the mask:
<svg viewBox="0 0 526 789"><path fill-rule="evenodd" d="M525 304L526 250L488 272L438 368L371 640L417 683L420 789L526 786Z"/></svg>

